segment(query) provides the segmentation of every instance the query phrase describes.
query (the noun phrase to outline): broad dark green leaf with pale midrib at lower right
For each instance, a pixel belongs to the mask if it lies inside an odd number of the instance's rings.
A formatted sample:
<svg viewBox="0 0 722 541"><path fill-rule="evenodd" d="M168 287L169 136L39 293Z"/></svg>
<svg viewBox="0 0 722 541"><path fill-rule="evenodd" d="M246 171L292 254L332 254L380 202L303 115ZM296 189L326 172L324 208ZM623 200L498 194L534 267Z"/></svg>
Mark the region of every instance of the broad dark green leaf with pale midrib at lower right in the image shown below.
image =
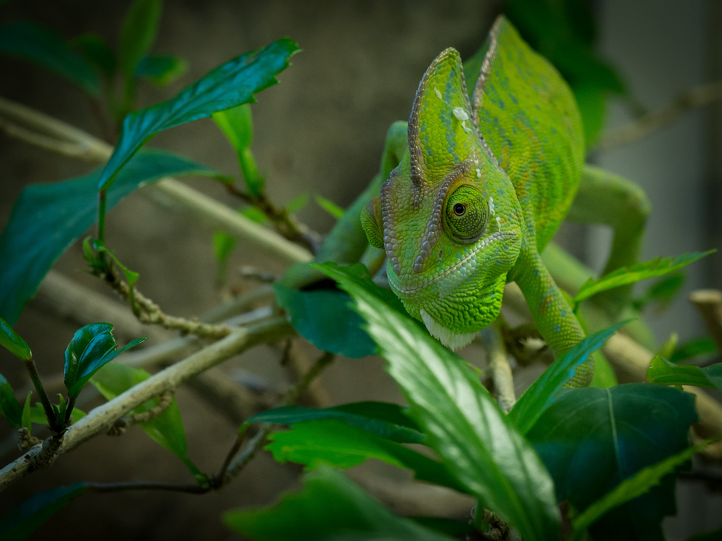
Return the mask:
<svg viewBox="0 0 722 541"><path fill-rule="evenodd" d="M644 467L689 447L697 421L695 397L661 385L622 384L611 389L565 389L526 437L554 478L558 501L578 511ZM591 527L596 541L661 535L674 514L674 480L612 510ZM646 538L646 537L643 537Z"/></svg>

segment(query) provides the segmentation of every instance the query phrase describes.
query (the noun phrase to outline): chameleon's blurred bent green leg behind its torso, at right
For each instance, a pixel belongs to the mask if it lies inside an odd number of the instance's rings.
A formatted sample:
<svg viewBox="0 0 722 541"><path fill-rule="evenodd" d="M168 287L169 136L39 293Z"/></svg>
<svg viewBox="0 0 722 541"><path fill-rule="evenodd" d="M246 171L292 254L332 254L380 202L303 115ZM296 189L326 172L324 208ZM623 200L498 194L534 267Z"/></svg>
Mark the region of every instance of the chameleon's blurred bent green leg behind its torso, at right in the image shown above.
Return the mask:
<svg viewBox="0 0 722 541"><path fill-rule="evenodd" d="M650 204L642 188L619 175L585 165L579 190L567 220L604 224L614 231L612 251L603 274L639 262ZM611 317L630 299L632 284L599 294L598 301Z"/></svg>

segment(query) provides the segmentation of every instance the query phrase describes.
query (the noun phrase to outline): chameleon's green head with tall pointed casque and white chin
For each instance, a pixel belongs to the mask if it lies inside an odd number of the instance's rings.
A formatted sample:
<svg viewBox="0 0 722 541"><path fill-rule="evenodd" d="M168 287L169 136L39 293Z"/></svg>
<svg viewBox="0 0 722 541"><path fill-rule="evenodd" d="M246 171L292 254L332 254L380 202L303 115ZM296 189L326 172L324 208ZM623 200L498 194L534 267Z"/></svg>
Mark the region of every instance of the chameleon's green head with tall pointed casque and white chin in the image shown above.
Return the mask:
<svg viewBox="0 0 722 541"><path fill-rule="evenodd" d="M514 187L472 118L461 58L448 48L419 84L409 149L362 214L371 245L386 250L391 289L452 349L499 314L523 227Z"/></svg>

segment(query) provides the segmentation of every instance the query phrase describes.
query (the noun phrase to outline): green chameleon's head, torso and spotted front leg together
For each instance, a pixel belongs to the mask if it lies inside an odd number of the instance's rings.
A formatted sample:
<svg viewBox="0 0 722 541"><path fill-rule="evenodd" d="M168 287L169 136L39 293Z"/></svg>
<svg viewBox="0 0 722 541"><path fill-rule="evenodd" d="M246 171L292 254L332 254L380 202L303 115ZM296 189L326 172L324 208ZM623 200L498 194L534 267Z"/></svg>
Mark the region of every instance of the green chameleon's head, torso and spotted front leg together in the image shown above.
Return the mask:
<svg viewBox="0 0 722 541"><path fill-rule="evenodd" d="M560 74L505 18L481 58L478 67L467 63L471 92L453 48L427 69L409 148L362 225L386 252L391 289L446 346L465 346L490 325L505 283L516 281L559 356L584 333L539 254L578 189L580 115ZM586 364L573 384L587 384L592 373Z"/></svg>

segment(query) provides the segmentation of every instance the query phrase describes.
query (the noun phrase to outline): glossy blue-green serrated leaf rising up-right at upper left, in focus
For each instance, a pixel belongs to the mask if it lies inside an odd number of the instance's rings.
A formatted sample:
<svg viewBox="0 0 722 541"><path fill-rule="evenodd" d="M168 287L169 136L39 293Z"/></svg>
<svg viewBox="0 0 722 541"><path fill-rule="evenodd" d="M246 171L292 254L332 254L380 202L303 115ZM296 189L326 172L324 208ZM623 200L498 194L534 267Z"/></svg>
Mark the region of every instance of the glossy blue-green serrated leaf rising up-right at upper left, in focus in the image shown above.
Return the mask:
<svg viewBox="0 0 722 541"><path fill-rule="evenodd" d="M287 38L274 41L266 48L217 66L170 100L126 115L118 144L100 174L98 188L110 188L121 168L156 133L251 102L253 94L277 82L276 74L289 65L288 59L297 50L296 43Z"/></svg>

